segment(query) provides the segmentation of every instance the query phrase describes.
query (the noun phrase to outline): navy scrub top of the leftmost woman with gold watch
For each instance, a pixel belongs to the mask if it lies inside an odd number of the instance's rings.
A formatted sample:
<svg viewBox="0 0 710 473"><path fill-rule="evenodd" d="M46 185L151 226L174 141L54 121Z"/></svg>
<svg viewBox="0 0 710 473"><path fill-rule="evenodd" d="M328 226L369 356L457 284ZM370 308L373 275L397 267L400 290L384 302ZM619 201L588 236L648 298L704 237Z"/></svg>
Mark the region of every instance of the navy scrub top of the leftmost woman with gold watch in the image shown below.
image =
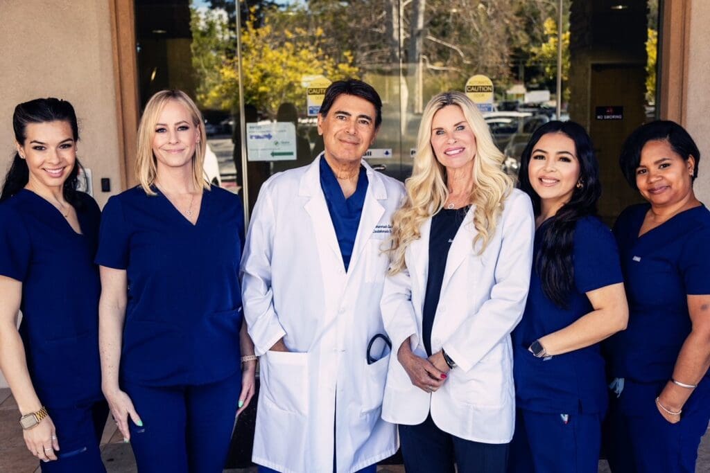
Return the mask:
<svg viewBox="0 0 710 473"><path fill-rule="evenodd" d="M0 204L0 274L22 282L20 335L40 401L71 407L102 399L99 294L94 265L101 211L78 193L82 233L22 189Z"/></svg>

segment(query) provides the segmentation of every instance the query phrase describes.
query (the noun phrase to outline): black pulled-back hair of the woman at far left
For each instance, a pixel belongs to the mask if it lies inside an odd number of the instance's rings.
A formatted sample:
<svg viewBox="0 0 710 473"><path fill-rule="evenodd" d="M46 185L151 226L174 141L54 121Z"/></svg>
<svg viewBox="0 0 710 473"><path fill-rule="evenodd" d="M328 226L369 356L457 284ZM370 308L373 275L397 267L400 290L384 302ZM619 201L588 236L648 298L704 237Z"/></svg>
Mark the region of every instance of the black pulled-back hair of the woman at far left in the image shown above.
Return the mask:
<svg viewBox="0 0 710 473"><path fill-rule="evenodd" d="M74 111L74 107L65 100L54 99L52 97L48 99L34 99L15 107L15 113L13 113L12 116L12 128L15 131L15 140L17 143L24 145L27 139L27 126L30 123L47 123L50 121L65 121L69 123L69 126L72 128L74 141L77 142L79 140L79 125L77 123L77 114ZM77 194L80 167L79 160L77 160L67 180L64 182L63 188L64 198L74 207L81 206L81 199ZM29 178L30 172L27 167L27 162L23 160L20 157L20 153L16 151L10 170L5 177L2 191L0 192L0 202L17 194L27 185Z"/></svg>

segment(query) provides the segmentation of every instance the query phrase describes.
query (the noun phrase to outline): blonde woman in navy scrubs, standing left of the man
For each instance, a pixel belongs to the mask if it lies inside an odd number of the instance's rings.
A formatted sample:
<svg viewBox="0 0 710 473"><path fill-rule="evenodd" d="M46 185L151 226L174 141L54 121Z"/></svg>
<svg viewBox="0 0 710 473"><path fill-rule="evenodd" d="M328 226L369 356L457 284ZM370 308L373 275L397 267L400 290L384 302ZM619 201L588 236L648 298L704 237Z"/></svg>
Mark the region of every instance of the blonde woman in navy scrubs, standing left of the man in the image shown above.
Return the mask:
<svg viewBox="0 0 710 473"><path fill-rule="evenodd" d="M253 395L244 213L239 196L204 181L205 147L192 99L155 94L138 128L141 185L102 216L102 388L141 473L222 472L234 416Z"/></svg>

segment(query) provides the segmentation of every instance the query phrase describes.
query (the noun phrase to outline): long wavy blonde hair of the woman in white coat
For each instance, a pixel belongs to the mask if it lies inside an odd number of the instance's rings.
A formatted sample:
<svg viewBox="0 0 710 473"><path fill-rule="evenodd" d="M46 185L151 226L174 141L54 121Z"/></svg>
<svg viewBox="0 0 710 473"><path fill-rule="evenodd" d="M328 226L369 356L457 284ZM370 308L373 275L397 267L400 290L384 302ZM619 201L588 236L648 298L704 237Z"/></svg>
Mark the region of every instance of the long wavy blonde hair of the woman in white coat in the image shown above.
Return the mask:
<svg viewBox="0 0 710 473"><path fill-rule="evenodd" d="M496 233L503 201L513 189L513 181L502 169L503 153L493 143L488 125L471 99L458 91L442 92L434 96L422 113L414 169L412 176L405 181L406 201L393 216L392 246L388 250L391 275L405 269L405 250L408 245L421 237L422 224L438 213L449 198L446 169L434 154L431 135L435 113L452 105L461 108L476 137L474 187L471 189L469 204L475 206L473 223L477 233L472 245L475 247L481 242L479 255Z"/></svg>

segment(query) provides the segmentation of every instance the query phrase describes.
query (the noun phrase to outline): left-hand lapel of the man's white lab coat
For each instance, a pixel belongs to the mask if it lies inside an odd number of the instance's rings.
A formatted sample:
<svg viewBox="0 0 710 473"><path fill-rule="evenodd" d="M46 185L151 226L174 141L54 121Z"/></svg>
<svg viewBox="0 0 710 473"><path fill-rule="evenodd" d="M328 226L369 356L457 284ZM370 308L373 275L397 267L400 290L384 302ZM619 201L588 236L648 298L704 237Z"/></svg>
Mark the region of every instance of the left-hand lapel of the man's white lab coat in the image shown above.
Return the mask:
<svg viewBox="0 0 710 473"><path fill-rule="evenodd" d="M338 238L335 235L335 228L333 227L333 222L330 218L330 212L328 211L328 204L325 201L323 189L320 187L320 160L322 159L323 155L321 154L311 163L306 173L303 174L298 194L300 196L310 196L310 199L306 202L303 208L305 208L305 211L312 220L313 228L315 229L317 247L330 248L342 265L343 258L340 254ZM329 264L327 263L329 260L327 255L324 255L322 250L320 251L322 264ZM342 267L344 267L344 265ZM327 272L324 272L323 274L327 274Z"/></svg>

